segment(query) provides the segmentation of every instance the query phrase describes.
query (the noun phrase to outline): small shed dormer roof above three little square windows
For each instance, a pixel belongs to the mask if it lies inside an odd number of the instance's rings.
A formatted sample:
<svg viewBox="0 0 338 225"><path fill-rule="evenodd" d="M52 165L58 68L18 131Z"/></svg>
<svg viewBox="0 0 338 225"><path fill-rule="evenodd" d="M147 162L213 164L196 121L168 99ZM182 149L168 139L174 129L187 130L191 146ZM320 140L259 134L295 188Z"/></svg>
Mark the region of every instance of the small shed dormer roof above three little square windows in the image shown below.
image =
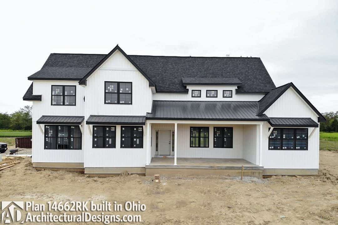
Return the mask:
<svg viewBox="0 0 338 225"><path fill-rule="evenodd" d="M237 78L224 78L224 77L209 77L209 78L191 78L183 77L183 85L203 85L203 84L212 84L212 85L236 85L240 86L242 82Z"/></svg>

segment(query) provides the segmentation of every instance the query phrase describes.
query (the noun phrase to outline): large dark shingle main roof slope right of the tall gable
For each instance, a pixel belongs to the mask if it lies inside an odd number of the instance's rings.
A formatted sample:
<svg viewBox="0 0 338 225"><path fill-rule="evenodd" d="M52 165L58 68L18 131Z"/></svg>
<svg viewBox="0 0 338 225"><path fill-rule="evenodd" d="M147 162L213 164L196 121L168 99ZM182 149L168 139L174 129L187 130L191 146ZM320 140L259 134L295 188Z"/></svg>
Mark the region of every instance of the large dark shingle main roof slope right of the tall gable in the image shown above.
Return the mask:
<svg viewBox="0 0 338 225"><path fill-rule="evenodd" d="M153 80L158 91L187 89L182 78L237 78L239 92L269 92L275 87L260 58L130 55Z"/></svg>

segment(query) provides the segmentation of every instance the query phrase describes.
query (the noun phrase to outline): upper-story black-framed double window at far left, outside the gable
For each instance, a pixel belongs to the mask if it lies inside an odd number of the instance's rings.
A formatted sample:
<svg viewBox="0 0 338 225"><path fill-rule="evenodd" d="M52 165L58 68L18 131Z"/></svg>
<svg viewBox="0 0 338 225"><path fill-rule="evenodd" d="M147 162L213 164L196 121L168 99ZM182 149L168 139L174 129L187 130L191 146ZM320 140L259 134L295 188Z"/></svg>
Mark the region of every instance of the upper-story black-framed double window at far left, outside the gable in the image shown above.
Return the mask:
<svg viewBox="0 0 338 225"><path fill-rule="evenodd" d="M76 86L52 85L52 106L76 106Z"/></svg>

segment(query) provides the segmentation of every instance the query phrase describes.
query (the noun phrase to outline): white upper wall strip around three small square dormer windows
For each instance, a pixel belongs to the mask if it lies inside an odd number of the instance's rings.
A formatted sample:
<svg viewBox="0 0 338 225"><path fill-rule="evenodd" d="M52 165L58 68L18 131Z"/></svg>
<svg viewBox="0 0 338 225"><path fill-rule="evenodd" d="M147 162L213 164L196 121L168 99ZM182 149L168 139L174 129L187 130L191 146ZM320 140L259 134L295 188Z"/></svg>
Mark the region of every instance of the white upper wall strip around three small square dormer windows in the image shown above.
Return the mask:
<svg viewBox="0 0 338 225"><path fill-rule="evenodd" d="M154 93L153 100L163 101L259 101L264 94L236 94L237 86L191 86L188 93ZM192 97L192 90L201 90L201 97ZM217 97L207 97L207 90L217 90ZM232 90L232 97L223 97L223 90Z"/></svg>

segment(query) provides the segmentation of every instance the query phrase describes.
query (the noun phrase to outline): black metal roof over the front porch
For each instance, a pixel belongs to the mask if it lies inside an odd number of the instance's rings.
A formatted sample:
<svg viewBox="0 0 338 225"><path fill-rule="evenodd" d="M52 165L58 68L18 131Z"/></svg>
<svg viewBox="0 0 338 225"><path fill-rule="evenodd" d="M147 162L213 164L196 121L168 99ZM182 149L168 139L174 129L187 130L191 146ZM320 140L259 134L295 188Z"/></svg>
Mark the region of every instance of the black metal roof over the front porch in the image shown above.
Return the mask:
<svg viewBox="0 0 338 225"><path fill-rule="evenodd" d="M182 120L264 120L257 116L258 102L153 101L147 119Z"/></svg>

